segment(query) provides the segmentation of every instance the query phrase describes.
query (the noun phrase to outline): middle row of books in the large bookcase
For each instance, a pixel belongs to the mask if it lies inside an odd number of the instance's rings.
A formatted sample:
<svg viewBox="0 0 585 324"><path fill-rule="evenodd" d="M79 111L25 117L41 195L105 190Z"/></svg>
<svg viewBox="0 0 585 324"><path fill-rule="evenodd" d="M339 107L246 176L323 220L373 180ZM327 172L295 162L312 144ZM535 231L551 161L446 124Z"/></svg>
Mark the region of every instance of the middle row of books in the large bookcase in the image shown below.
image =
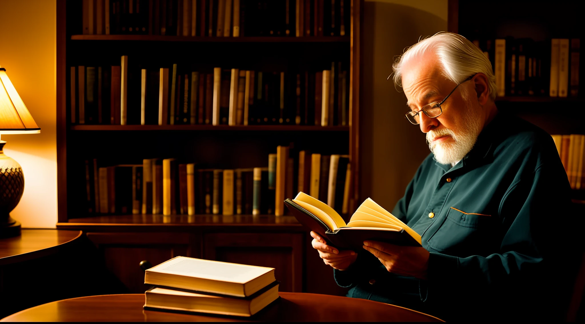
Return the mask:
<svg viewBox="0 0 585 324"><path fill-rule="evenodd" d="M122 56L118 66L70 68L72 124L349 124L341 62L298 73L128 66Z"/></svg>

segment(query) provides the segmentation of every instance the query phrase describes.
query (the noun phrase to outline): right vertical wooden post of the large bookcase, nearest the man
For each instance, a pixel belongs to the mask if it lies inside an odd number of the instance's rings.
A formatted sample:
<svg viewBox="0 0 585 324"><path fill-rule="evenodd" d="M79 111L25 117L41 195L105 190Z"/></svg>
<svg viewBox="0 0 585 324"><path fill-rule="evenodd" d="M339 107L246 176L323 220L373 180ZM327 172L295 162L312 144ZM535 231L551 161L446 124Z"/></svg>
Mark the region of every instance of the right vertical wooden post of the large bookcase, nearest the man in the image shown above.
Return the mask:
<svg viewBox="0 0 585 324"><path fill-rule="evenodd" d="M350 72L349 72L349 156L352 166L352 186L350 186L349 214L353 214L357 201L360 200L360 83L362 82L363 39L362 22L364 0L352 0Z"/></svg>

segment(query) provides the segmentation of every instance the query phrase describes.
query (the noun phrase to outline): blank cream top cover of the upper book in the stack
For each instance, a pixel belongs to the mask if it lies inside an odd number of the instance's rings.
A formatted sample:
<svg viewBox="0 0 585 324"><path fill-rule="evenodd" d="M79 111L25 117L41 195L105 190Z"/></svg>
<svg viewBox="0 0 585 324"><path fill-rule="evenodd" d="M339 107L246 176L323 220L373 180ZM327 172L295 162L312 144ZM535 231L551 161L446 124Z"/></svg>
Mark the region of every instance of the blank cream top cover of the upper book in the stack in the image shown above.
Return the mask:
<svg viewBox="0 0 585 324"><path fill-rule="evenodd" d="M229 283L247 283L271 270L274 270L274 268L247 266L245 264L178 256L163 262L158 266L154 266L147 271L226 281Z"/></svg>

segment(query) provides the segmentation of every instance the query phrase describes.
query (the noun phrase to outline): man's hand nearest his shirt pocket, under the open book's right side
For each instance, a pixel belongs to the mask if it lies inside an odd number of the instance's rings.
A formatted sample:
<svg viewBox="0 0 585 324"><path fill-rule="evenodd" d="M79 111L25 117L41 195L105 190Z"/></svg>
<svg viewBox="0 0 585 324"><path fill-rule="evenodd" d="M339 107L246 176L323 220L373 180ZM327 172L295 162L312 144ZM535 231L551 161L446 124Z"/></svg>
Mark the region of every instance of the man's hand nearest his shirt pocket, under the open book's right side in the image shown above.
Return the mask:
<svg viewBox="0 0 585 324"><path fill-rule="evenodd" d="M380 260L391 273L426 280L429 252L425 248L364 241L364 249Z"/></svg>

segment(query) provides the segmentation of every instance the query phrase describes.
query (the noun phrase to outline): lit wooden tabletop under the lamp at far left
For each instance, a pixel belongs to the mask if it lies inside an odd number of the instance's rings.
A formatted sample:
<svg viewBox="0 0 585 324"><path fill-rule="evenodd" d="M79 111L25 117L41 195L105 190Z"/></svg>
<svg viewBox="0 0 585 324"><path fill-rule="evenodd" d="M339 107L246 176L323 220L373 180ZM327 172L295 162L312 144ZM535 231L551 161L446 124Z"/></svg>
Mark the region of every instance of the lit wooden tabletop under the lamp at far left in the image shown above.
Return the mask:
<svg viewBox="0 0 585 324"><path fill-rule="evenodd" d="M20 236L0 239L0 266L52 255L81 236L81 231L23 229Z"/></svg>

